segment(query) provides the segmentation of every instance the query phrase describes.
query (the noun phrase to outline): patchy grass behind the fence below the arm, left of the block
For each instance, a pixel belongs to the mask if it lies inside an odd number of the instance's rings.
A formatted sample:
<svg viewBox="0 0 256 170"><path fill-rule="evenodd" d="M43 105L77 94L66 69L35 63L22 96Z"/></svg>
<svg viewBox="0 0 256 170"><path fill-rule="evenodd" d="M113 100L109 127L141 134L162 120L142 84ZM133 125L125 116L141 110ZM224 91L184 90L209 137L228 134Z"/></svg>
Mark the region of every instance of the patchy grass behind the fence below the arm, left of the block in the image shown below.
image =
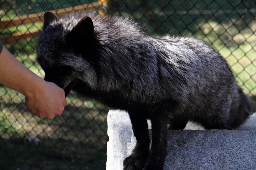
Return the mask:
<svg viewBox="0 0 256 170"><path fill-rule="evenodd" d="M7 92L10 98L12 91ZM20 102L5 103L0 113L1 168L105 169L108 109L75 94L67 101L62 115L51 120L31 115ZM27 134L41 144L25 142Z"/></svg>

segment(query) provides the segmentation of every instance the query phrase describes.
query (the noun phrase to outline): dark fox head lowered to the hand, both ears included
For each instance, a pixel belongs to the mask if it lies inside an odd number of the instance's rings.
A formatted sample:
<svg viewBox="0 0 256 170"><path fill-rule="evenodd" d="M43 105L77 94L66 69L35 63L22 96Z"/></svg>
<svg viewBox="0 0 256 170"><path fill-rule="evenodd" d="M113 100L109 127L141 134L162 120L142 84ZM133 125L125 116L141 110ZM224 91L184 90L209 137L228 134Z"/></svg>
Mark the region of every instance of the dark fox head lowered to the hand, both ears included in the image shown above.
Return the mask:
<svg viewBox="0 0 256 170"><path fill-rule="evenodd" d="M93 43L94 24L90 17L68 15L58 19L45 12L37 48L37 61L45 72L45 81L63 88L66 96L79 83L95 88Z"/></svg>

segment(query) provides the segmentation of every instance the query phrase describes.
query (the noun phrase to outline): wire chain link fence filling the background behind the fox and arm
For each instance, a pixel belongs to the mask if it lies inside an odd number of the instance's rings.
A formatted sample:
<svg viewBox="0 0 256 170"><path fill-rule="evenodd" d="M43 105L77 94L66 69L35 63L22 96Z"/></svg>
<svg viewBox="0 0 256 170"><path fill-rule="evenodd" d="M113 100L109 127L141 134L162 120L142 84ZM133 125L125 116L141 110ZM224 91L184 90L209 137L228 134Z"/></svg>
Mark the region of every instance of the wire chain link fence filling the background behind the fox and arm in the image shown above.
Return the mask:
<svg viewBox="0 0 256 170"><path fill-rule="evenodd" d="M138 21L148 34L198 37L228 61L244 91L256 99L254 0L0 0L0 40L37 75L42 15L96 10ZM24 96L0 85L1 169L105 169L108 108L71 93L62 115L39 119Z"/></svg>

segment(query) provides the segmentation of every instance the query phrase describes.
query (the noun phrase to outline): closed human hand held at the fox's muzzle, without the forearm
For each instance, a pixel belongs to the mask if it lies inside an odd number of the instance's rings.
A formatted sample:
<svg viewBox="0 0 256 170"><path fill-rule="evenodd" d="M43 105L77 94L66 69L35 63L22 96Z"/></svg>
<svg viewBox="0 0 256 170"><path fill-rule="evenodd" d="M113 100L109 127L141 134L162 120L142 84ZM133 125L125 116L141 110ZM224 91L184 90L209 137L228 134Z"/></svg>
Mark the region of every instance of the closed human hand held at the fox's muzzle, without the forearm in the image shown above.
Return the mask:
<svg viewBox="0 0 256 170"><path fill-rule="evenodd" d="M39 118L52 119L60 115L66 103L64 90L44 80L25 97L27 109Z"/></svg>

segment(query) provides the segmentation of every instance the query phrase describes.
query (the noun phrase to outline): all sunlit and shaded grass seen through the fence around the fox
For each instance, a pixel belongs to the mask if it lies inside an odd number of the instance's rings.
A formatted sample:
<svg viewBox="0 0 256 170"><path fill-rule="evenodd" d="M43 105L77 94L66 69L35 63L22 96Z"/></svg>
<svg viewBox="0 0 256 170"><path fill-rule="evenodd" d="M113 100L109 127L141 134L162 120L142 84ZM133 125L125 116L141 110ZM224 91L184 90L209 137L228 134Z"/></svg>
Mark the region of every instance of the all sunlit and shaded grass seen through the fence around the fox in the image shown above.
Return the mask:
<svg viewBox="0 0 256 170"><path fill-rule="evenodd" d="M40 26L2 30L9 34ZM198 24L193 36L211 44L229 63L237 81L254 100L256 96L256 22L238 28L232 22ZM187 32L185 36L191 36ZM14 56L34 73L44 72L35 63L36 42L6 45ZM62 115L51 120L31 115L24 96L0 86L0 167L1 169L105 169L108 109L75 94L67 97ZM26 143L37 136L41 144Z"/></svg>

